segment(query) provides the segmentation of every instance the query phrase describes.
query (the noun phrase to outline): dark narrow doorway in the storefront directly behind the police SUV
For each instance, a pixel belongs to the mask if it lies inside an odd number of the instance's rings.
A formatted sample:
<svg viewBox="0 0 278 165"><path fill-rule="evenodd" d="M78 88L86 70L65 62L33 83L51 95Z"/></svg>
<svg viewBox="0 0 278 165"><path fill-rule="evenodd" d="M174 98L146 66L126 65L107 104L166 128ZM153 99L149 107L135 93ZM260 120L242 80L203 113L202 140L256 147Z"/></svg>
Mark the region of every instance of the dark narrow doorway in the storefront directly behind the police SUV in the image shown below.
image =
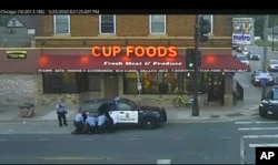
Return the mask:
<svg viewBox="0 0 278 165"><path fill-rule="evenodd" d="M105 74L105 97L116 97L119 95L119 79L117 73Z"/></svg>

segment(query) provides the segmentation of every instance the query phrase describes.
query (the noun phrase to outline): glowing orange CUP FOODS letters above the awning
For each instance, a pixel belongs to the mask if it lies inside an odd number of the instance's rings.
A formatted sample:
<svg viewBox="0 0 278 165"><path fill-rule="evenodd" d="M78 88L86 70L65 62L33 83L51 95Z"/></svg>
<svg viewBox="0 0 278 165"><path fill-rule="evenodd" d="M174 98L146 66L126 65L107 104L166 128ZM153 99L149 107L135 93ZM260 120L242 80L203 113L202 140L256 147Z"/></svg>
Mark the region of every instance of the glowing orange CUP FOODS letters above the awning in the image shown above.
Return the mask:
<svg viewBox="0 0 278 165"><path fill-rule="evenodd" d="M123 51L126 50L126 51ZM177 47L132 47L128 45L125 49L121 47L92 47L91 54L92 56L106 56L115 58L120 53L126 53L127 56L148 56L148 58L175 58L178 55Z"/></svg>

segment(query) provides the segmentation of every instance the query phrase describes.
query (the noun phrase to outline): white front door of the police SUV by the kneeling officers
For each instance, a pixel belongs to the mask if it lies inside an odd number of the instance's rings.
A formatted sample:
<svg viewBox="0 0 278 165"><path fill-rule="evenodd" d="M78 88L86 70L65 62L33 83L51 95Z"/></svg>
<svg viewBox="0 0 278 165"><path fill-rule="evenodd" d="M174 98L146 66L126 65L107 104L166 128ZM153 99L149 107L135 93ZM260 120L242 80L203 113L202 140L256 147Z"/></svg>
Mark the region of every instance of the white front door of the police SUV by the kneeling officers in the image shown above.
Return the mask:
<svg viewBox="0 0 278 165"><path fill-rule="evenodd" d="M119 123L138 123L138 110L129 102L118 102L116 109Z"/></svg>

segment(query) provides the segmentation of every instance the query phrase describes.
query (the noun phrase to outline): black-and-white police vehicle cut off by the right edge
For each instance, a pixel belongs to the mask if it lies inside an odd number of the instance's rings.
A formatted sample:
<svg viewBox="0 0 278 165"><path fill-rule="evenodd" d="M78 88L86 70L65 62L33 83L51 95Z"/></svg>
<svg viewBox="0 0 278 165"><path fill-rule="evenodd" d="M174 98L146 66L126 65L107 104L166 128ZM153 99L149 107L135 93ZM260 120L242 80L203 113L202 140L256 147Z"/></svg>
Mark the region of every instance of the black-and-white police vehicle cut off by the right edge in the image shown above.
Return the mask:
<svg viewBox="0 0 278 165"><path fill-rule="evenodd" d="M275 85L259 104L259 115L261 117L278 118L278 86Z"/></svg>

